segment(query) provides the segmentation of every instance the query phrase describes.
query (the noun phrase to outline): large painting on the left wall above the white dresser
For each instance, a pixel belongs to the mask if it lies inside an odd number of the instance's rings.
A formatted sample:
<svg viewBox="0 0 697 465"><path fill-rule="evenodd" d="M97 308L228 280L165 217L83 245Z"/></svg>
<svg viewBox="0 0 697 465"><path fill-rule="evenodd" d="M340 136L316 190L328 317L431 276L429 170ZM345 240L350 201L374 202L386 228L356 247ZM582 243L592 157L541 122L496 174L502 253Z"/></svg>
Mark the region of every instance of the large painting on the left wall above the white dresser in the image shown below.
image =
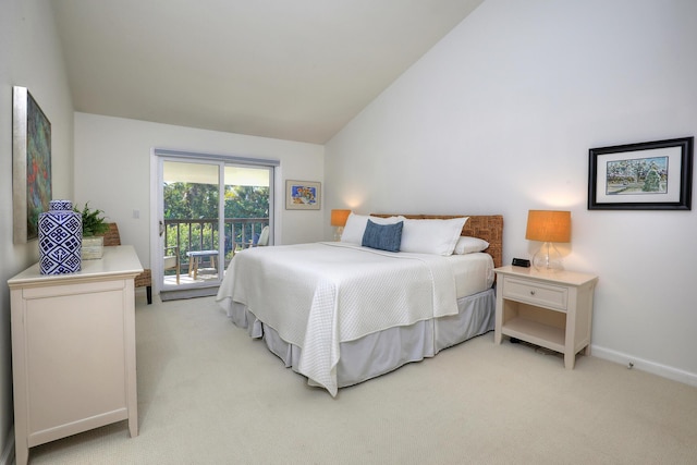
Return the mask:
<svg viewBox="0 0 697 465"><path fill-rule="evenodd" d="M52 198L51 123L26 87L12 90L12 233L23 244L38 238Z"/></svg>

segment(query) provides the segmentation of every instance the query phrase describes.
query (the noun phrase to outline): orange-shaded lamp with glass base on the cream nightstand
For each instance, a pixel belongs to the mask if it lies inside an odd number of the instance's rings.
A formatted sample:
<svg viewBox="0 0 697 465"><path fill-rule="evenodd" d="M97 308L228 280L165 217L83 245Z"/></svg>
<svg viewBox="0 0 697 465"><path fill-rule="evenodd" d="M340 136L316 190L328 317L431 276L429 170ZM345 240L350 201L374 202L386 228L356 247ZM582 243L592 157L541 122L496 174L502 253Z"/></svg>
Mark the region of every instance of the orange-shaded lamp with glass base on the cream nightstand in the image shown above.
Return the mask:
<svg viewBox="0 0 697 465"><path fill-rule="evenodd" d="M557 242L571 242L571 211L529 210L525 238L543 242L533 257L533 266L542 271L564 269Z"/></svg>

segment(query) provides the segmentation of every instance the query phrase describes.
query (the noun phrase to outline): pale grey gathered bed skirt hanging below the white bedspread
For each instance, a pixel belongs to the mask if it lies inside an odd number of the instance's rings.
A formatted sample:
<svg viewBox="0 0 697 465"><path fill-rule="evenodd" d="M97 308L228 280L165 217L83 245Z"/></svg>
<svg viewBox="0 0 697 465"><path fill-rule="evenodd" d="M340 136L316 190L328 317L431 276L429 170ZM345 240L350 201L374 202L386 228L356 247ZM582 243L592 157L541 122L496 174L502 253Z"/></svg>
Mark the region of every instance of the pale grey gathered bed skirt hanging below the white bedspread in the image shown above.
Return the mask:
<svg viewBox="0 0 697 465"><path fill-rule="evenodd" d="M411 362L432 357L443 348L493 330L496 293L493 289L457 301L458 314L395 327L340 344L337 366L339 388L357 384L384 375ZM239 303L228 311L233 323L255 339L264 339L269 350L288 368L302 375L297 366L302 347L283 341L279 333ZM317 386L308 379L310 386Z"/></svg>

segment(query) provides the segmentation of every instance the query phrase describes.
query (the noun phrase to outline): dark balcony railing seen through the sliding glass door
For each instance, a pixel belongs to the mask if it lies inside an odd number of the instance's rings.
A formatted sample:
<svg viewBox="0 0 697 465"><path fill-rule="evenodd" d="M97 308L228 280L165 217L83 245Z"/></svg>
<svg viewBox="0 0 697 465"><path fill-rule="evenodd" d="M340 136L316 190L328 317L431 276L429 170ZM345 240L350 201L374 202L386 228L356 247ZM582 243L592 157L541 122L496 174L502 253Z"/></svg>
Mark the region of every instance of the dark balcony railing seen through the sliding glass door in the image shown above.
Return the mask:
<svg viewBox="0 0 697 465"><path fill-rule="evenodd" d="M224 267L233 256L233 250L246 248L269 224L268 218L225 218L223 227ZM164 246L176 247L182 271L188 269L187 252L218 250L218 219L164 220Z"/></svg>

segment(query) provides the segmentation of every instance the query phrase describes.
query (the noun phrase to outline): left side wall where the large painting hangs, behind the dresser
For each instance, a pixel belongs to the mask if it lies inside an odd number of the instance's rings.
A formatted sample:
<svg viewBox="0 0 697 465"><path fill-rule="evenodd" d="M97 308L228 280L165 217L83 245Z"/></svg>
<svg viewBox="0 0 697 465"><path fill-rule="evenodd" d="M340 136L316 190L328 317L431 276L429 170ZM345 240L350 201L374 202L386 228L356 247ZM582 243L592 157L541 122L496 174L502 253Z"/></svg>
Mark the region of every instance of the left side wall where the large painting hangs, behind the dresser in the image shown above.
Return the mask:
<svg viewBox="0 0 697 465"><path fill-rule="evenodd" d="M29 89L51 122L54 198L73 194L73 107L47 0L3 0L0 13L0 282L38 260L38 244L12 241L12 86ZM0 285L0 462L14 446L10 293Z"/></svg>

